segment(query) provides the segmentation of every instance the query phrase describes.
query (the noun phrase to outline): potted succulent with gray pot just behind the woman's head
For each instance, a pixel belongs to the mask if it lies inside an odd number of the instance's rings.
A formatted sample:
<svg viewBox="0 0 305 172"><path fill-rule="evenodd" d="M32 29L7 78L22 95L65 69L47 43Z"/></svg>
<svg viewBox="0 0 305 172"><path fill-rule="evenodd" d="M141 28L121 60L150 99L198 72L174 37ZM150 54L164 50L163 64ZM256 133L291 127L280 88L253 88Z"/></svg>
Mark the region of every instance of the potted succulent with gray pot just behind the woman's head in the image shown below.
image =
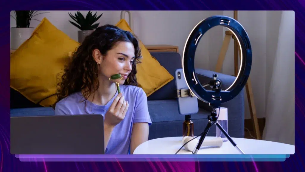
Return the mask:
<svg viewBox="0 0 305 172"><path fill-rule="evenodd" d="M99 26L99 23L94 24L99 18L103 15L103 13L99 16L96 15L97 12L95 12L94 15L92 15L92 12L89 11L84 17L81 12L77 11L74 16L69 13L69 16L74 20L69 22L73 24L75 27L80 29L80 31L77 31L78 36L78 42L83 42L84 38L87 35L90 35L94 29L96 29Z"/></svg>

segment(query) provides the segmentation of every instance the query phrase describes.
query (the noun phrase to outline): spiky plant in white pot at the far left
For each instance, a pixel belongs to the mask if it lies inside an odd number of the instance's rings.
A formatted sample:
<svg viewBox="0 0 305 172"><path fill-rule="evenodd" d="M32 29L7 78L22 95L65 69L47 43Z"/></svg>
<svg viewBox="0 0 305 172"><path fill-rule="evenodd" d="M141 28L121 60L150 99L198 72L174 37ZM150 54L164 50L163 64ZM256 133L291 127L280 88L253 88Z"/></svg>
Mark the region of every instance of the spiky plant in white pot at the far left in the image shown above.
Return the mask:
<svg viewBox="0 0 305 172"><path fill-rule="evenodd" d="M11 27L11 49L17 49L25 40L30 38L34 31L34 27L30 27L31 20L37 20L33 17L42 14L37 12L20 10L14 11L15 17L11 15L16 20L16 27Z"/></svg>

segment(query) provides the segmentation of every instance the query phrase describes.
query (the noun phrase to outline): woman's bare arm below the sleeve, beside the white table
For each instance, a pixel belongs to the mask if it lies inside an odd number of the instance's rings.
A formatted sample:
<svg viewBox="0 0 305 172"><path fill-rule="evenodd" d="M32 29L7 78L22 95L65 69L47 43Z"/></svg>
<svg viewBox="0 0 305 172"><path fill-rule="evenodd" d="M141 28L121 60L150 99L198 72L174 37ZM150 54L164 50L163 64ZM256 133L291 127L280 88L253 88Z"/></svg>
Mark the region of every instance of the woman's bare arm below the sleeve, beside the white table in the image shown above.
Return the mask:
<svg viewBox="0 0 305 172"><path fill-rule="evenodd" d="M135 149L148 140L148 123L134 123L131 133L130 154L133 154Z"/></svg>

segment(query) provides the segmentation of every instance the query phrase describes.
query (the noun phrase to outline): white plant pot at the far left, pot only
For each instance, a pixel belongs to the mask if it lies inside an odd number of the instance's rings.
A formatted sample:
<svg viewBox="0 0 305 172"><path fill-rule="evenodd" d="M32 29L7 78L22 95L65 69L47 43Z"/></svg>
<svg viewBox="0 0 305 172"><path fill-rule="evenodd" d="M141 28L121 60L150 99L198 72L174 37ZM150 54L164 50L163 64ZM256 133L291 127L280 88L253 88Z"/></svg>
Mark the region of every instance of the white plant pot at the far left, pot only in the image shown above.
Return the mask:
<svg viewBox="0 0 305 172"><path fill-rule="evenodd" d="M19 46L32 35L34 27L11 27L11 49L18 49Z"/></svg>

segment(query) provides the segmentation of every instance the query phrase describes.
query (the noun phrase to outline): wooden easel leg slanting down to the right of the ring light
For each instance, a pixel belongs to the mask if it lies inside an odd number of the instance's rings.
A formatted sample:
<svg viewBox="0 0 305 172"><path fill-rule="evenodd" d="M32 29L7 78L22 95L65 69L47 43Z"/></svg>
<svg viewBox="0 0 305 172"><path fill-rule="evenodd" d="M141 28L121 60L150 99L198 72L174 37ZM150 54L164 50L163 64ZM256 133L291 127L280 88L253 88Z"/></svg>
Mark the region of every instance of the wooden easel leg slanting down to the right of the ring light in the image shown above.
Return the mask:
<svg viewBox="0 0 305 172"><path fill-rule="evenodd" d="M241 53L239 50L238 50L238 53L239 53L239 58L241 58L242 56L241 56ZM255 104L254 104L254 97L253 97L250 77L248 78L247 83L246 83L246 94L247 94L247 98L248 98L248 104L249 104L250 115L251 115L251 119L252 119L252 123L253 123L254 133L256 135L256 138L258 140L261 140L260 127L258 126L258 120L257 120L257 115L256 115L256 108L255 108Z"/></svg>

